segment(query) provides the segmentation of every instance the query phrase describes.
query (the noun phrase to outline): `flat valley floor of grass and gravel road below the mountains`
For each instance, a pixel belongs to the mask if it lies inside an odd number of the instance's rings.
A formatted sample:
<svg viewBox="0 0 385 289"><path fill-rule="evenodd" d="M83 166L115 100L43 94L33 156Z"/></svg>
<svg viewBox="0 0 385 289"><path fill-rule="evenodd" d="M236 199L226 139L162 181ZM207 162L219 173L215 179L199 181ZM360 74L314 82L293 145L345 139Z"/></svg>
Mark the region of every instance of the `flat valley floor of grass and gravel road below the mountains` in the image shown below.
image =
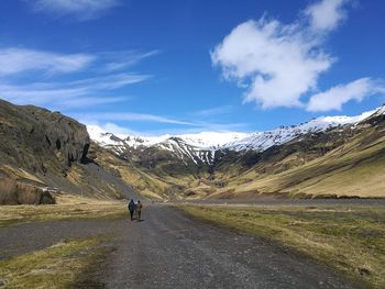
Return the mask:
<svg viewBox="0 0 385 289"><path fill-rule="evenodd" d="M384 205L362 201L145 202L142 222L130 221L117 201L64 196L45 214L43 207L7 205L0 281L9 288L382 288Z"/></svg>

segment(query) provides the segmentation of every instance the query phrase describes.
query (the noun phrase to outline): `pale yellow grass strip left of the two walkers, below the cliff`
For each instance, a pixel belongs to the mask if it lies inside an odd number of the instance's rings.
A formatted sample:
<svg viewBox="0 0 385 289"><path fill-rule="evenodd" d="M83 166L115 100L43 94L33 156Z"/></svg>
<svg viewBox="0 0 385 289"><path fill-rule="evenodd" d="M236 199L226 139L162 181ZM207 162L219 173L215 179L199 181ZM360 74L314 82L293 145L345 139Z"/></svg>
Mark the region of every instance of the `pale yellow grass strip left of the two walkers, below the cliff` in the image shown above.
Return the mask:
<svg viewBox="0 0 385 289"><path fill-rule="evenodd" d="M81 198L75 194L55 196L57 204L1 205L0 227L34 221L70 219L107 219L127 215L127 203Z"/></svg>

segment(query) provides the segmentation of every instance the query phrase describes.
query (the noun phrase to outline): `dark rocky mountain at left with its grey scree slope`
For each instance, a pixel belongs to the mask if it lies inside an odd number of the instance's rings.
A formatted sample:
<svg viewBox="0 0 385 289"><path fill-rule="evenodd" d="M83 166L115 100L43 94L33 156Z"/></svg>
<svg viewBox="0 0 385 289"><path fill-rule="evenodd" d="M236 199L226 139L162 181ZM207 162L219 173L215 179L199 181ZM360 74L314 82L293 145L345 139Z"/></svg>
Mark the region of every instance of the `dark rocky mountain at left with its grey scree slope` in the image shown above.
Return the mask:
<svg viewBox="0 0 385 289"><path fill-rule="evenodd" d="M47 187L100 198L134 196L116 171L102 169L90 158L90 146L84 124L58 112L0 100L0 181L15 182L15 192L9 192L13 197L0 199L22 202L18 190Z"/></svg>

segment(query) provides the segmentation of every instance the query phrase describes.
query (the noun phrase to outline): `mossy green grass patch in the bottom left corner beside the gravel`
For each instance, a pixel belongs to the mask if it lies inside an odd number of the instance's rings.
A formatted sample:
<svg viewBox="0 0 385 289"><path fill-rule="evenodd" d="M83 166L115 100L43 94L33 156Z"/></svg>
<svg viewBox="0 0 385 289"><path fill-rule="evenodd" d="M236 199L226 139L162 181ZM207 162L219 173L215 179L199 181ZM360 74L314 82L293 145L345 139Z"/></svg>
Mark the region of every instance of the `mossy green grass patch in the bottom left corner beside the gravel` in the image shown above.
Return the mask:
<svg viewBox="0 0 385 289"><path fill-rule="evenodd" d="M58 243L1 260L0 280L4 288L74 288L85 284L85 276L100 260L100 238Z"/></svg>

